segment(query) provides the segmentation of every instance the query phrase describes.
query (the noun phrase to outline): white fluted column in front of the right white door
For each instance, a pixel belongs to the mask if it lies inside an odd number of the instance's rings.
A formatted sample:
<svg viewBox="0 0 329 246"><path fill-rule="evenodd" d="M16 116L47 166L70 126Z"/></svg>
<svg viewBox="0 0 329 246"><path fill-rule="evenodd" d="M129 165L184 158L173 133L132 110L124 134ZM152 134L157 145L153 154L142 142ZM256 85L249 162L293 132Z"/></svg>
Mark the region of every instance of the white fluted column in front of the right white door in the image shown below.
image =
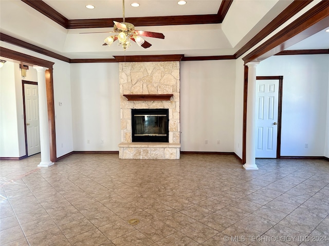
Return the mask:
<svg viewBox="0 0 329 246"><path fill-rule="evenodd" d="M259 63L247 63L248 93L247 93L247 132L246 132L246 163L247 170L258 170L256 165L256 67Z"/></svg>

